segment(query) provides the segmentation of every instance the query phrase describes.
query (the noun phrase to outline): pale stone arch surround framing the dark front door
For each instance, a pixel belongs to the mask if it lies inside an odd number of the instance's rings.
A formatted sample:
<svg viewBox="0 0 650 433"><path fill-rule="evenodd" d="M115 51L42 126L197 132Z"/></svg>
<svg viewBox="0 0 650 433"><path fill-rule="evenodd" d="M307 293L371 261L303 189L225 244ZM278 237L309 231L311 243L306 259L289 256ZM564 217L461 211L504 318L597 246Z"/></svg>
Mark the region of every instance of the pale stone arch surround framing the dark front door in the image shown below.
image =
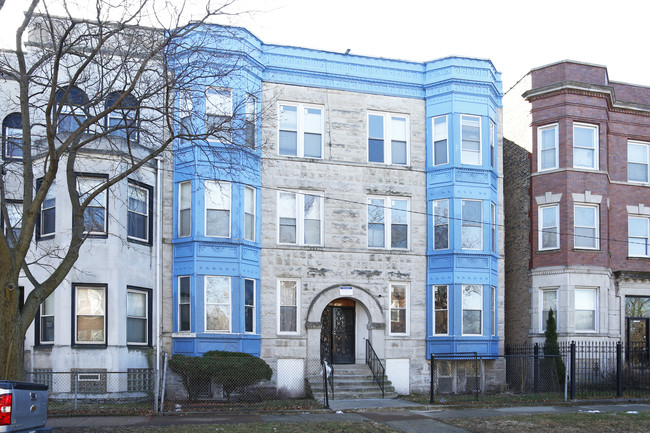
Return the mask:
<svg viewBox="0 0 650 433"><path fill-rule="evenodd" d="M353 312L353 327L350 327L350 320L335 332L347 333L348 340L344 343L347 347L353 347L353 353L349 357L334 359L334 362L341 363L363 363L365 360L365 339L368 339L380 357L384 355L384 331L385 319L379 300L368 290L359 286L330 286L320 292L309 305L307 311L307 357L309 360L320 362L323 344L332 344L330 341L323 341L323 324L321 322L323 313L331 309L335 313L335 307L348 309ZM341 313L341 310L338 311ZM332 316L332 320L335 318ZM327 325L326 325L327 326ZM335 326L330 324L330 326ZM352 333L353 335L349 335ZM349 339L352 339L350 342ZM342 338L341 340L344 340ZM352 344L351 344L352 343Z"/></svg>

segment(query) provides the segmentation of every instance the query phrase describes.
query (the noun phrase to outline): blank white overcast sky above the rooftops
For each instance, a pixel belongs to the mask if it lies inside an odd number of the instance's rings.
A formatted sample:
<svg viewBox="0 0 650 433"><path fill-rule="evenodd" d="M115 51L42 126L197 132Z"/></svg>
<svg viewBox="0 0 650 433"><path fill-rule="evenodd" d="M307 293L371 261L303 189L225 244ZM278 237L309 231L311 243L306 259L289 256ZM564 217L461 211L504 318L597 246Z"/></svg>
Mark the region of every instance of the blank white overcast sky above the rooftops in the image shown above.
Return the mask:
<svg viewBox="0 0 650 433"><path fill-rule="evenodd" d="M180 1L180 0L179 0ZM199 0L192 0L201 3ZM0 30L26 0L7 0ZM237 0L229 20L268 44L396 58L490 59L504 91L532 68L571 59L650 86L648 0ZM13 35L1 35L6 46Z"/></svg>

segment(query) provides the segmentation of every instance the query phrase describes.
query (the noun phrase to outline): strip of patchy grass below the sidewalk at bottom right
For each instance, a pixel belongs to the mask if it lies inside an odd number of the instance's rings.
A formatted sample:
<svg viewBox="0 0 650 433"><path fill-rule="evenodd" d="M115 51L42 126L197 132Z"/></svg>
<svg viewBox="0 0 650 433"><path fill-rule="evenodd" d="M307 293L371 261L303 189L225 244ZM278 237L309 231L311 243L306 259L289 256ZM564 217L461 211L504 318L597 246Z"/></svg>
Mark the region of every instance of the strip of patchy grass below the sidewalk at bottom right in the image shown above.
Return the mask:
<svg viewBox="0 0 650 433"><path fill-rule="evenodd" d="M650 412L569 413L490 418L453 418L442 420L470 432L481 433L605 433L650 431Z"/></svg>

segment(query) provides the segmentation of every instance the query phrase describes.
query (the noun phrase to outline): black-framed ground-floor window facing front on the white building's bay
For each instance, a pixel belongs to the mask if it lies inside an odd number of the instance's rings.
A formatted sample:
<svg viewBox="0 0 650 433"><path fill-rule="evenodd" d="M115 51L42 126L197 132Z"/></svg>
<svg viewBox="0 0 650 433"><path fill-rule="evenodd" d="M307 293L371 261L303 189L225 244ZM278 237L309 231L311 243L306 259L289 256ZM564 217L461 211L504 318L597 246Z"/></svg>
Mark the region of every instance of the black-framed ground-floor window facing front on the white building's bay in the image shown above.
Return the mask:
<svg viewBox="0 0 650 433"><path fill-rule="evenodd" d="M75 344L106 344L106 287L74 286Z"/></svg>

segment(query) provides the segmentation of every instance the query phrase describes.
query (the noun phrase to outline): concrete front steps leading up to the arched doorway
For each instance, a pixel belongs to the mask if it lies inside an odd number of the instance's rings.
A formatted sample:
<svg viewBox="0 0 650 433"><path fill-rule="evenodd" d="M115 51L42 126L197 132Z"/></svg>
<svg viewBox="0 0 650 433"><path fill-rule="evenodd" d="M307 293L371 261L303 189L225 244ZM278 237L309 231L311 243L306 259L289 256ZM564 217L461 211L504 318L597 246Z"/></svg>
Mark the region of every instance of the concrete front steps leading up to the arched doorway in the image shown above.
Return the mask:
<svg viewBox="0 0 650 433"><path fill-rule="evenodd" d="M325 398L323 376L314 375L307 378L314 399L322 401ZM334 365L334 396L328 389L330 400L350 400L364 398L381 398L381 388L372 377L372 372L366 364L337 364ZM395 388L384 376L384 398L396 398Z"/></svg>

